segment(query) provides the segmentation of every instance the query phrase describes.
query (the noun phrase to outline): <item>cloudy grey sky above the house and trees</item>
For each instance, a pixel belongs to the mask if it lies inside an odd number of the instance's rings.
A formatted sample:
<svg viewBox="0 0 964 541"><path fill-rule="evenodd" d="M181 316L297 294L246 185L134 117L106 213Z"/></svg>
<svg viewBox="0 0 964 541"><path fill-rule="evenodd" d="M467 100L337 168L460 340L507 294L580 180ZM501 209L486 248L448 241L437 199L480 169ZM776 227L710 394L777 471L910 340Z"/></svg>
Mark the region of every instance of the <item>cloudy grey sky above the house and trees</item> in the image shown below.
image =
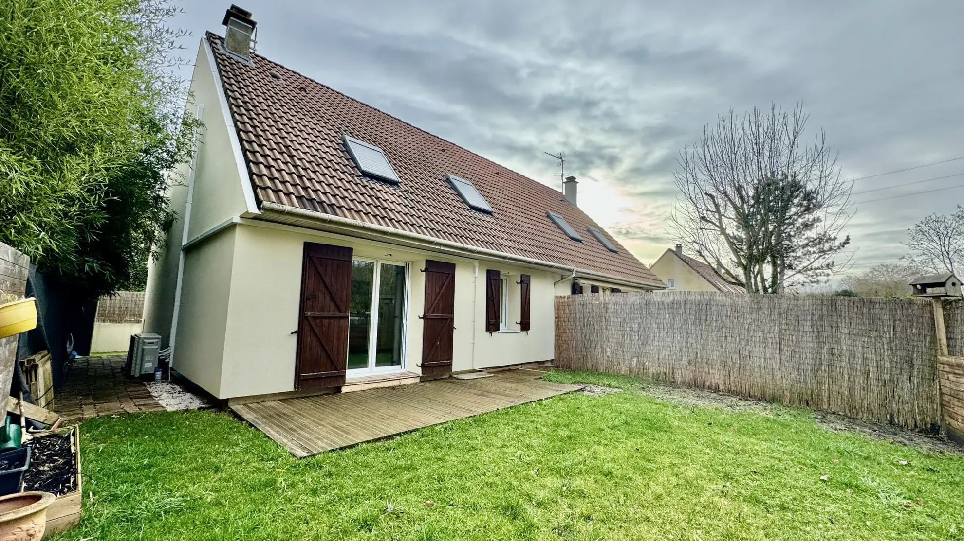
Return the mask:
<svg viewBox="0 0 964 541"><path fill-rule="evenodd" d="M229 4L181 2L185 56L205 30L223 35ZM673 243L679 151L730 108L802 100L845 178L964 157L959 0L241 7L259 54L506 167L555 187L543 152L564 150L579 206L644 263ZM854 270L897 260L906 229L952 212L962 185L964 159L856 180Z"/></svg>

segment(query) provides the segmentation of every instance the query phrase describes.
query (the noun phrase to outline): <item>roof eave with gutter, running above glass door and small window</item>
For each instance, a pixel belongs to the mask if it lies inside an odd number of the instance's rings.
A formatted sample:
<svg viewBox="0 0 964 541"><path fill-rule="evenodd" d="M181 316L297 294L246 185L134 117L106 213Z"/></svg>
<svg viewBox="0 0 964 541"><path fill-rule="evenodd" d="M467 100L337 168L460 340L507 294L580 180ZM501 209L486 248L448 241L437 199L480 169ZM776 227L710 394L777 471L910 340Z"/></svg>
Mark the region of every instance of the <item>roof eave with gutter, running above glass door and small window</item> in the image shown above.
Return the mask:
<svg viewBox="0 0 964 541"><path fill-rule="evenodd" d="M409 246L420 247L423 249L429 249L429 250L437 251L441 253L451 253L453 255L458 255L462 257L471 257L474 259L484 259L488 261L509 261L517 265L522 265L524 267L531 267L534 269L563 270L566 273L572 273L575 271L577 276L596 278L606 282L612 282L614 284L625 285L630 287L637 287L637 288L650 289L650 290L666 289L665 284L656 284L656 283L647 282L644 280L629 278L626 276L618 276L615 274L600 272L598 270L579 269L572 265L564 265L560 263L552 263L549 261L541 261L538 259L533 259L530 257L511 254L507 252L500 252L496 250L490 250L487 248L480 248L478 246L465 245L462 243L456 243L452 241L445 241L443 239L437 239L435 237L429 237L427 235L412 233L410 231L405 231L402 229L395 229L393 227L386 227L384 225L368 223L366 221L361 221L358 219L341 218L335 215L320 213L317 211L309 211L298 207L281 205L279 203L274 203L271 201L263 201L261 203L261 214L260 216L258 216L258 218L265 219L268 221L277 221L279 223L289 223L289 224L291 224L291 218L296 218L296 219L308 221L311 224L311 227L310 227L311 229L320 229L320 230L331 231L334 233L342 233L342 234L347 233L349 235L352 235L353 233L357 234L359 232L364 232L369 236L371 234L374 234L377 237L381 238L382 240L389 242L391 244L409 245ZM304 224L298 224L298 225L305 226Z"/></svg>

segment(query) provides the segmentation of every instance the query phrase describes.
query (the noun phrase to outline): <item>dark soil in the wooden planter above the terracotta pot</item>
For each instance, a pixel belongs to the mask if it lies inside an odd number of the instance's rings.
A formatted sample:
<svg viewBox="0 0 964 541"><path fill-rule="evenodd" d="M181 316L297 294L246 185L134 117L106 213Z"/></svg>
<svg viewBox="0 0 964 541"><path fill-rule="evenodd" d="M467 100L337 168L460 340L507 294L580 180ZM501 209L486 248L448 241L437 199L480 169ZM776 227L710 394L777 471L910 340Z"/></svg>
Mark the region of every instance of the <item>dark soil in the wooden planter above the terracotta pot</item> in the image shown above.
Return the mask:
<svg viewBox="0 0 964 541"><path fill-rule="evenodd" d="M23 475L24 490L61 496L77 490L77 464L70 434L47 434L31 442L30 468Z"/></svg>

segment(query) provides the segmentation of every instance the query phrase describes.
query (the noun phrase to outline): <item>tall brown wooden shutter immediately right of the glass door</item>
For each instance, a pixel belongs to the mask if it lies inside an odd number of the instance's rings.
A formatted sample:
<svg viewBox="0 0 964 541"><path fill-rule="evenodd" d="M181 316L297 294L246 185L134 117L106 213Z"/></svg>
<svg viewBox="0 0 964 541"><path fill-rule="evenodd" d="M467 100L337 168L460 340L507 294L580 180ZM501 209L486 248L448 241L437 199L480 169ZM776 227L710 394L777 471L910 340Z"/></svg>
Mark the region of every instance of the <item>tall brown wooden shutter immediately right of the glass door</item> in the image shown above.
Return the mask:
<svg viewBox="0 0 964 541"><path fill-rule="evenodd" d="M455 264L425 262L425 314L422 324L422 375L452 372L455 330Z"/></svg>

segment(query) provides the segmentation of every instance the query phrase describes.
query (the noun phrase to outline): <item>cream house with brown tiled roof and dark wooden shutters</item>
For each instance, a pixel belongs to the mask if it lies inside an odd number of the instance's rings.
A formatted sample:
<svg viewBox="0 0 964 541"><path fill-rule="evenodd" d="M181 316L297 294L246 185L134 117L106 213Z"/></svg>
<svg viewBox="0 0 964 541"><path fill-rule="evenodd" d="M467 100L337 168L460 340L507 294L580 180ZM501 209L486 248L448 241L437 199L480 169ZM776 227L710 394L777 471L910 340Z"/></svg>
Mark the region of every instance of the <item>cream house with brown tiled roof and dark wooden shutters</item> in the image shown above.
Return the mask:
<svg viewBox="0 0 964 541"><path fill-rule="evenodd" d="M665 287L575 179L564 197L252 54L250 13L226 24L230 51L201 40L204 129L145 313L216 398L545 361L554 296Z"/></svg>

